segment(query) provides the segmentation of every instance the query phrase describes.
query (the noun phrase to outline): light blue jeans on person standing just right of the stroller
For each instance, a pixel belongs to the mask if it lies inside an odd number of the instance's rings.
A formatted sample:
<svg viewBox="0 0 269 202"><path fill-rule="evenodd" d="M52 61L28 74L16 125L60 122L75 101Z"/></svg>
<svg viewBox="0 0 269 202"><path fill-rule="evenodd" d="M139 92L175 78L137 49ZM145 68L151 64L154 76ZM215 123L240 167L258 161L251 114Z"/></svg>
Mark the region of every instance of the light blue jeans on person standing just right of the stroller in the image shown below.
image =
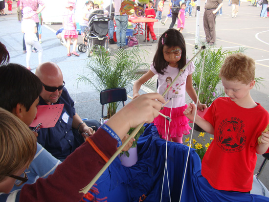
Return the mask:
<svg viewBox="0 0 269 202"><path fill-rule="evenodd" d="M117 26L117 31L116 31L116 37L117 37L117 45L118 47L124 47L126 45L126 31L128 27L128 16L123 15L123 16L118 16L115 15L115 22ZM120 36L121 33L121 36Z"/></svg>

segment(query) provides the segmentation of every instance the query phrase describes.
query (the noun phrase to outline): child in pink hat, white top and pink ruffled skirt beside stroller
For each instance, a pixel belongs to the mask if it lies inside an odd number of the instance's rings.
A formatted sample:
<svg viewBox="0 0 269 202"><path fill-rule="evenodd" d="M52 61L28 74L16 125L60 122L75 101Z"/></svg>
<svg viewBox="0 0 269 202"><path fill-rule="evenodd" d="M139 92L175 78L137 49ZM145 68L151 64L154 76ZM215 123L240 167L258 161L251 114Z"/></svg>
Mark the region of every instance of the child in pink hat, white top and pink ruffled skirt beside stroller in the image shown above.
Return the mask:
<svg viewBox="0 0 269 202"><path fill-rule="evenodd" d="M75 22L75 15L74 15L74 8L75 8L75 2L72 0L69 0L66 6L66 11L64 12L63 16L63 25L64 25L64 37L67 39L67 56L70 57L71 55L79 56L79 54L76 52L76 46L78 41L78 35L77 35L77 25ZM70 53L70 45L71 45L71 39L74 39L73 43L73 51Z"/></svg>

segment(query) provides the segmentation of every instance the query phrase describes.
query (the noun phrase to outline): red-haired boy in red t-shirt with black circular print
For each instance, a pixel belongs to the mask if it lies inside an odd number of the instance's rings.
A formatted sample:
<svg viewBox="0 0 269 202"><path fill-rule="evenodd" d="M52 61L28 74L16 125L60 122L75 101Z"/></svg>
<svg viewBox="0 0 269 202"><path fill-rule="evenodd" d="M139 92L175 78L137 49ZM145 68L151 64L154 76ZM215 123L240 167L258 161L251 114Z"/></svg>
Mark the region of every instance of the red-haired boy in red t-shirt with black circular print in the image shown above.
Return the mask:
<svg viewBox="0 0 269 202"><path fill-rule="evenodd" d="M268 112L250 95L255 85L255 61L243 53L228 56L220 70L228 97L217 98L195 123L214 134L202 159L202 176L218 190L250 193L256 153L269 152ZM184 114L194 119L195 105ZM259 138L261 137L261 138ZM260 141L258 141L258 138Z"/></svg>

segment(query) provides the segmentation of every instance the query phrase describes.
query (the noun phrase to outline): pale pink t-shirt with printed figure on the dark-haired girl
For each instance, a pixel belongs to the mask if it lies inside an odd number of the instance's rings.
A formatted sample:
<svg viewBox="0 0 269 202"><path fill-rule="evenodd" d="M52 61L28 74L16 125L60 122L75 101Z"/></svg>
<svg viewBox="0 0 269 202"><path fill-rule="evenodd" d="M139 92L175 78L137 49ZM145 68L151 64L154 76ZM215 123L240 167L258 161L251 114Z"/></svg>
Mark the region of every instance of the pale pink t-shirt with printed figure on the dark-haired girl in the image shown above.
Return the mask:
<svg viewBox="0 0 269 202"><path fill-rule="evenodd" d="M186 63L188 63L189 60L186 59ZM157 73L156 69L153 67L153 63L150 66L150 70L158 75L158 82L159 86L157 89L157 92L162 94L167 87L170 85L170 83L174 80L174 78L178 75L179 69L175 67L168 66L165 70L165 73L163 75ZM172 102L168 102L165 107L168 108L177 108L182 107L186 104L185 101L185 94L186 94L186 80L187 76L189 74L192 74L194 71L194 64L193 62L190 63L190 65L181 73L179 78L177 79L176 83L170 88L168 91L168 99L171 97L173 98L173 106ZM165 101L167 101L167 96L165 96Z"/></svg>

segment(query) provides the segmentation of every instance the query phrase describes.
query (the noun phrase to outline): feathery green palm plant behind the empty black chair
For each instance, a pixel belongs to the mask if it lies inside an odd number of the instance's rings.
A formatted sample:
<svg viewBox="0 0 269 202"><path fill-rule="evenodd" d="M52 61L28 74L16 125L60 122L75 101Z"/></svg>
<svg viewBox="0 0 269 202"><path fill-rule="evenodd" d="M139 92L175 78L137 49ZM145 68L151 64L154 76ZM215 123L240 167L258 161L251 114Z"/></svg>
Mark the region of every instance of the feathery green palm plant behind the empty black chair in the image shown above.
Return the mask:
<svg viewBox="0 0 269 202"><path fill-rule="evenodd" d="M142 74L138 74L140 69L149 69L149 64L141 58L145 51L139 47L119 49L112 56L104 47L98 48L98 52L93 52L93 57L89 59L85 74L79 75L78 83L90 84L95 90L101 92L106 89L125 88L127 92L133 89L134 81ZM150 89L155 89L155 83L149 80L145 84ZM119 103L108 104L108 118L111 117Z"/></svg>

